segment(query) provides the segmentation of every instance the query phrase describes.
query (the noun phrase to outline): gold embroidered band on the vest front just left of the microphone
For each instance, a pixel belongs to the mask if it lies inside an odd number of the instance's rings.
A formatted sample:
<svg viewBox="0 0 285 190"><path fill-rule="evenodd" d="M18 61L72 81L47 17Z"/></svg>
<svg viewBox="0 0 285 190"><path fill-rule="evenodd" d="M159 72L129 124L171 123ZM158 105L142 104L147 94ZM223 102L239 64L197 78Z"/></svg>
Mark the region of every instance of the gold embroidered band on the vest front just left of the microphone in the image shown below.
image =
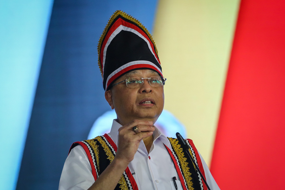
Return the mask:
<svg viewBox="0 0 285 190"><path fill-rule="evenodd" d="M184 173L184 179L187 183L188 189L194 190L193 182L191 181L192 177L190 176L190 175L192 175L192 173L190 173L190 171L189 171L190 168L188 167L188 162L186 162L187 158L184 157L184 152L182 152L181 145L178 144L177 139L174 139L174 138L168 138L168 139L169 139L169 141L173 147L174 152L176 153L176 155L178 157L178 160L179 160L180 165L181 165L181 169Z"/></svg>

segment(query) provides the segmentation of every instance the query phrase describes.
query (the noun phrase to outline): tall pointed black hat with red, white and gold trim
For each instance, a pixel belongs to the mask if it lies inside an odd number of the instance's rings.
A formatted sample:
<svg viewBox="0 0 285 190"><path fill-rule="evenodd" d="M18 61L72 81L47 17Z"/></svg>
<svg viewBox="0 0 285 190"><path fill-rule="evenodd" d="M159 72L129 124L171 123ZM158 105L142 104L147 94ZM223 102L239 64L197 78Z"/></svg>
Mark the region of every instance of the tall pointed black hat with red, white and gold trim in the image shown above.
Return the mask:
<svg viewBox="0 0 285 190"><path fill-rule="evenodd" d="M132 70L151 69L162 76L152 36L137 19L122 11L111 16L99 39L98 65L105 90Z"/></svg>

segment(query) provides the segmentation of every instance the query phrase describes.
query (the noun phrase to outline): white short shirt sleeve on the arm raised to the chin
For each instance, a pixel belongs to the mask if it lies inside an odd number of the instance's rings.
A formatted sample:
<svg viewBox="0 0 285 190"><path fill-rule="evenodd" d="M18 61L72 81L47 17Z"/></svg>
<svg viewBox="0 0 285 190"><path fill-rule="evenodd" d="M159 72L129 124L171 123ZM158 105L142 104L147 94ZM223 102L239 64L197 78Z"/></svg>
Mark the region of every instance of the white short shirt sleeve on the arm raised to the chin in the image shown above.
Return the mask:
<svg viewBox="0 0 285 190"><path fill-rule="evenodd" d="M87 154L82 146L74 147L64 163L59 190L86 190L95 182Z"/></svg>

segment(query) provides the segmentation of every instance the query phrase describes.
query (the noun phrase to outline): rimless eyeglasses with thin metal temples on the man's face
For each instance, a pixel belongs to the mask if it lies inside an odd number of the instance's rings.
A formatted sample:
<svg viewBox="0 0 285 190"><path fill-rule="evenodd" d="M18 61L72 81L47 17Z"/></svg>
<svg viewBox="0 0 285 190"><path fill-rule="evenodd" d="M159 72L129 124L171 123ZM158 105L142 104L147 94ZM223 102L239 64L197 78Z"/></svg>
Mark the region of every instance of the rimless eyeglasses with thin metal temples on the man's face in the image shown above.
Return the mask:
<svg viewBox="0 0 285 190"><path fill-rule="evenodd" d="M148 83L152 87L160 87L165 84L166 78L163 78L162 76L151 76L151 77L132 77L132 78L126 78L126 80L123 80L121 82L118 82L116 84L113 84L110 88L113 86L116 86L117 84L120 84L122 82L126 82L127 87L129 88L139 88L143 86L144 79L148 80Z"/></svg>

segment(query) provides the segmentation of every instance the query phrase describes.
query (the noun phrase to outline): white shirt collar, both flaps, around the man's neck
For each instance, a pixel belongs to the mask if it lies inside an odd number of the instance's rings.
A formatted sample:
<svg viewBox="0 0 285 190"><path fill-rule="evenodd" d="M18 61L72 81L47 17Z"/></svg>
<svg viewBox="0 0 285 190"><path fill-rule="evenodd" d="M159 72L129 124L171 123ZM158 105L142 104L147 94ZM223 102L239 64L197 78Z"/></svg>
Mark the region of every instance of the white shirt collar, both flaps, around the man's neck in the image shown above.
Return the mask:
<svg viewBox="0 0 285 190"><path fill-rule="evenodd" d="M120 127L122 127L122 125L119 124L116 120L113 120L112 128L109 134L116 145L118 145L118 130ZM154 128L155 130L153 132L153 142L159 139L166 146L171 147L171 144L167 137L158 128L156 128L155 126Z"/></svg>

